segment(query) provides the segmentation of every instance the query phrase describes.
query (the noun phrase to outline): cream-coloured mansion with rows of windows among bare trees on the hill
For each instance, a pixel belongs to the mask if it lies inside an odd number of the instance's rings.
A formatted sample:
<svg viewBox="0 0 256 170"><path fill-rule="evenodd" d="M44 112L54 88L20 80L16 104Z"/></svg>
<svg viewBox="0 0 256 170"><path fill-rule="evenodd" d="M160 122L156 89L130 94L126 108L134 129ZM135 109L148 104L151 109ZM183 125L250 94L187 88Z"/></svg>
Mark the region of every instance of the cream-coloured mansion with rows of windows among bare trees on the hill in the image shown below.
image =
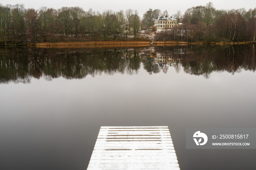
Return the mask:
<svg viewBox="0 0 256 170"><path fill-rule="evenodd" d="M165 29L165 28L171 28L174 26L178 26L178 20L174 18L165 18L163 16L160 16L159 19L155 20L154 27L157 29Z"/></svg>

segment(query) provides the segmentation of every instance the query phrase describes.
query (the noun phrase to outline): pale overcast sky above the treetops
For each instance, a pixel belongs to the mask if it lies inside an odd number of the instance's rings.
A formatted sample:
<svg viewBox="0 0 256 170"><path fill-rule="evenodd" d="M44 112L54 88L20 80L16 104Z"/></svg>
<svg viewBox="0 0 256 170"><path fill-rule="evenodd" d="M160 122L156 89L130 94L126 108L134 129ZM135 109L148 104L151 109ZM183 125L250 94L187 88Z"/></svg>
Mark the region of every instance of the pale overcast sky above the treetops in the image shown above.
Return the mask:
<svg viewBox="0 0 256 170"><path fill-rule="evenodd" d="M209 0L210 1L210 0ZM140 16L143 16L149 8L160 9L162 12L167 10L172 15L181 10L182 14L186 9L193 6L205 5L209 1L205 0L0 0L3 5L22 3L25 8L39 9L42 6L58 9L61 7L81 7L84 11L92 8L94 11L104 11L112 9L119 11L120 9L137 9ZM238 9L256 8L256 0L211 0L216 9Z"/></svg>

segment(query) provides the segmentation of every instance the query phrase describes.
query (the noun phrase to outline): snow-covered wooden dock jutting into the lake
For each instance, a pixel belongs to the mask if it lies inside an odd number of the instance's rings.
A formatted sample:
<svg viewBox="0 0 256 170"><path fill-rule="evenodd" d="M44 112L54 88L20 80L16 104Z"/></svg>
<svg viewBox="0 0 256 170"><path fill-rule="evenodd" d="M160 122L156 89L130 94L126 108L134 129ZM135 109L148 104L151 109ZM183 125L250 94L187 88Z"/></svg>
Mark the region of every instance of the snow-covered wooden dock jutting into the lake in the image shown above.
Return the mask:
<svg viewBox="0 0 256 170"><path fill-rule="evenodd" d="M87 170L180 170L162 127L101 127Z"/></svg>

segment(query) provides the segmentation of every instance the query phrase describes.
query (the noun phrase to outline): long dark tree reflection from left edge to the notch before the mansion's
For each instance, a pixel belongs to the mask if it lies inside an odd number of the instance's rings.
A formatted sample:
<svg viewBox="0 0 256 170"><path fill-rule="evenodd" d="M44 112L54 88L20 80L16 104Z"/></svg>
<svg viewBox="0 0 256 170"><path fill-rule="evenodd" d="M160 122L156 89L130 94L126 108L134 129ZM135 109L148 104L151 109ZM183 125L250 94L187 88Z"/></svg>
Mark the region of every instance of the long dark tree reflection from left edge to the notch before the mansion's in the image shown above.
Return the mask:
<svg viewBox="0 0 256 170"><path fill-rule="evenodd" d="M138 49L9 49L0 51L0 61L1 82L136 74L140 68Z"/></svg>

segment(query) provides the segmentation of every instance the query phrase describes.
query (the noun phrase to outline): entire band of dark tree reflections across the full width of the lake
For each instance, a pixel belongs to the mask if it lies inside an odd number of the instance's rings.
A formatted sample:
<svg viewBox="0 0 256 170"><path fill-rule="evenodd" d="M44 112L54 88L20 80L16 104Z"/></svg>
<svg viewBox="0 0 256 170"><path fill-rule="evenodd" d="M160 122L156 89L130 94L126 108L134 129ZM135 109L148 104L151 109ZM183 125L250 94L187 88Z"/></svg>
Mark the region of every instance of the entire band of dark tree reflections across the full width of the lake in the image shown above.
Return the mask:
<svg viewBox="0 0 256 170"><path fill-rule="evenodd" d="M255 45L237 46L161 46L154 47L154 55L172 59L171 63L155 63L145 49L0 49L0 82L29 83L31 77L51 81L96 76L137 74L141 63L149 73L168 72L209 78L212 72L239 73L242 69L255 72ZM147 49L146 49L147 51ZM166 59L166 58L165 58Z"/></svg>

